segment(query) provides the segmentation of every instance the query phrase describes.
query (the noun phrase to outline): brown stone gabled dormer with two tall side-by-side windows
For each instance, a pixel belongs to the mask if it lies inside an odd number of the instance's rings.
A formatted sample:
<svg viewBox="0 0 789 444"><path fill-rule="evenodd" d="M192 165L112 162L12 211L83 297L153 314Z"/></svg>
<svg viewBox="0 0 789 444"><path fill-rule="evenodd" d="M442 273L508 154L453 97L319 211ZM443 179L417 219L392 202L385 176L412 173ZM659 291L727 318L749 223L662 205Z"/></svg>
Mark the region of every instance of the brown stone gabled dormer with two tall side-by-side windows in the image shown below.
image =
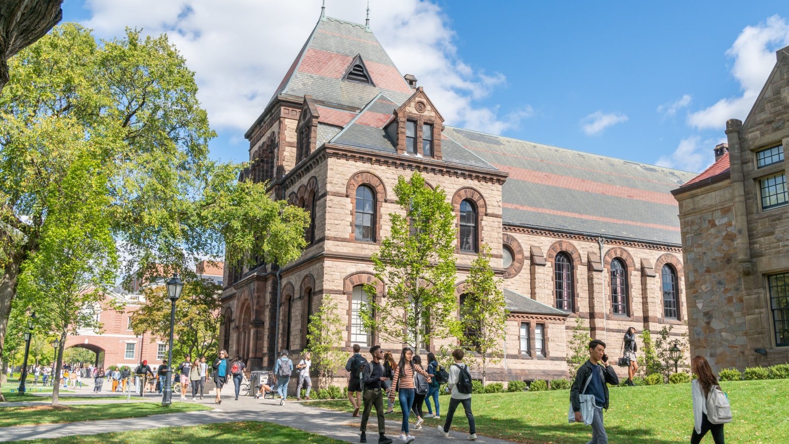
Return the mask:
<svg viewBox="0 0 789 444"><path fill-rule="evenodd" d="M443 117L420 86L412 96L394 110L394 119L387 125L397 145L398 154L424 156L441 160Z"/></svg>

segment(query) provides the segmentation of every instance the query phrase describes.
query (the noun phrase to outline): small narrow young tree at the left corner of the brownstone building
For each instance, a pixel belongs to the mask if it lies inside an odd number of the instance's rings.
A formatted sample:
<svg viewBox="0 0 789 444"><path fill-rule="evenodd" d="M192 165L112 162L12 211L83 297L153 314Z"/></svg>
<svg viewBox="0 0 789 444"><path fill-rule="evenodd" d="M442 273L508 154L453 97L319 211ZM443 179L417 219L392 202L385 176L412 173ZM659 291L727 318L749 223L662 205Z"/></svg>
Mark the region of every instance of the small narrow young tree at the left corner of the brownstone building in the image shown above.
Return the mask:
<svg viewBox="0 0 789 444"><path fill-rule="evenodd" d="M318 372L318 389L330 386L342 367L346 354L338 344L342 344L343 327L337 303L331 295L323 295L318 311L310 315L307 324L307 351L312 353L312 367Z"/></svg>

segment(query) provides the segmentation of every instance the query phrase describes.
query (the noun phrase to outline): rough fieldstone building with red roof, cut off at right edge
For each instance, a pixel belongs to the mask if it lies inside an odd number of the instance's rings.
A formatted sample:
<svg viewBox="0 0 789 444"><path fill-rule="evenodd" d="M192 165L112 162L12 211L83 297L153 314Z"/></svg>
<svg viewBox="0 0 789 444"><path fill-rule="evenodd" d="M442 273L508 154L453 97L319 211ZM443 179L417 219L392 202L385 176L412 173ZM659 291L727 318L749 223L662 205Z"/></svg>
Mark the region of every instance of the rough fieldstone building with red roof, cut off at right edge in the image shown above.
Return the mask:
<svg viewBox="0 0 789 444"><path fill-rule="evenodd" d="M713 368L789 362L789 47L716 162L677 190L690 352Z"/></svg>

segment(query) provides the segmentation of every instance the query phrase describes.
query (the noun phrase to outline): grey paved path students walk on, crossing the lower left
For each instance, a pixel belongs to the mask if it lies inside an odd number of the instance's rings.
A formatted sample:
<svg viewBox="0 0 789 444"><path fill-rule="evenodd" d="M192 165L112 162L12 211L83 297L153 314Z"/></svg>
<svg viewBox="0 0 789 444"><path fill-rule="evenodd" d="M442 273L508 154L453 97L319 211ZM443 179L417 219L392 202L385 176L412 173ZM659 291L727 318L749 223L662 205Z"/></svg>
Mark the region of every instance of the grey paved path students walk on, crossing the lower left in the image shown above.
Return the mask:
<svg viewBox="0 0 789 444"><path fill-rule="evenodd" d="M125 400L113 400L125 402ZM84 401L88 403L91 401ZM92 401L98 403L110 400ZM178 402L178 401L176 401ZM192 401L186 401L192 402ZM252 397L241 397L234 401L232 397L224 397L222 404L215 405L213 399L196 401L217 407L215 411L171 413L166 415L147 416L144 418L128 418L125 420L99 420L83 421L79 423L43 424L37 426L16 426L0 428L0 442L17 441L33 438L59 438L69 435L95 435L107 432L137 431L159 427L185 427L208 423L229 423L236 421L267 421L295 427L318 435L329 436L346 442L359 442L359 418L353 418L350 413L334 412L322 408L311 408L305 404L287 401L280 406L279 401L256 400ZM4 404L5 405L5 404ZM387 436L395 438L400 431L400 416L394 413L395 419L389 420L387 416ZM378 442L378 423L375 417L368 423L368 442ZM418 443L447 443L459 439L466 440L467 434L451 431L452 439L439 435L435 426L424 427L421 431L413 430L411 434L417 438ZM372 439L371 439L372 438ZM480 436L477 442L486 444L510 444L501 439Z"/></svg>

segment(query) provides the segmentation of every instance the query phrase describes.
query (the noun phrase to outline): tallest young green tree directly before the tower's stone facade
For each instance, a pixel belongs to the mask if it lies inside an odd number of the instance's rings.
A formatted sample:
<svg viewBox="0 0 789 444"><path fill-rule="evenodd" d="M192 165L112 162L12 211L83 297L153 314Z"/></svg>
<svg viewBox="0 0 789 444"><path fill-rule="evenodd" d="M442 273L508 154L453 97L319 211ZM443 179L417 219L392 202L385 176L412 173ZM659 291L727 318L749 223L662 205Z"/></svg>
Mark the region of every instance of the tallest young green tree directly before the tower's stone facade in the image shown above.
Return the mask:
<svg viewBox="0 0 789 444"><path fill-rule="evenodd" d="M386 297L372 297L361 317L365 328L418 350L432 337L447 337L456 317L455 216L443 188L426 186L418 171L400 176L394 195L402 213L389 214L391 235L372 254ZM375 295L376 288L366 284L365 292Z"/></svg>

